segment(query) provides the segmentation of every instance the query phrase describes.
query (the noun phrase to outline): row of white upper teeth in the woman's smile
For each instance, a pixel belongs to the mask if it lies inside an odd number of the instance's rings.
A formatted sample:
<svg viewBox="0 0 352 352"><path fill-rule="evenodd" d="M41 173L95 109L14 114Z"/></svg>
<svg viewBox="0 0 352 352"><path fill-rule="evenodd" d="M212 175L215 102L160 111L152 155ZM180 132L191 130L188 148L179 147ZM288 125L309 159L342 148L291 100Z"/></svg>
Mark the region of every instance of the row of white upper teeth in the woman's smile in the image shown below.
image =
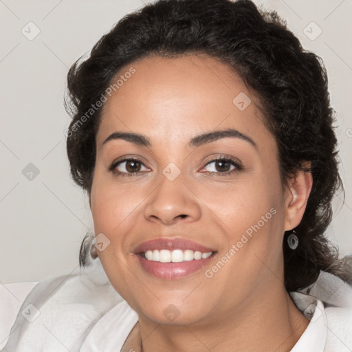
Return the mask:
<svg viewBox="0 0 352 352"><path fill-rule="evenodd" d="M198 250L147 250L144 256L148 261L159 261L161 263L181 263L182 261L199 261L212 255L212 252L202 253Z"/></svg>

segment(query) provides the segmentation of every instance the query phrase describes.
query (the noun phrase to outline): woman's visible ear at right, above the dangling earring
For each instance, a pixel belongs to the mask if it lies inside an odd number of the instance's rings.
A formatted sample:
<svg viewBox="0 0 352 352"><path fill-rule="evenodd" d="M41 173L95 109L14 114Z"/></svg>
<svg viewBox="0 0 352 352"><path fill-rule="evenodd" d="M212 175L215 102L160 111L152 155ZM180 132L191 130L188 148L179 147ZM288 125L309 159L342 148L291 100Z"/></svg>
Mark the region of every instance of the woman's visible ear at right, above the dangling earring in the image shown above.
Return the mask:
<svg viewBox="0 0 352 352"><path fill-rule="evenodd" d="M310 168L311 162L305 167ZM305 213L313 177L310 172L299 170L292 179L289 179L285 198L285 231L292 230L299 225Z"/></svg>

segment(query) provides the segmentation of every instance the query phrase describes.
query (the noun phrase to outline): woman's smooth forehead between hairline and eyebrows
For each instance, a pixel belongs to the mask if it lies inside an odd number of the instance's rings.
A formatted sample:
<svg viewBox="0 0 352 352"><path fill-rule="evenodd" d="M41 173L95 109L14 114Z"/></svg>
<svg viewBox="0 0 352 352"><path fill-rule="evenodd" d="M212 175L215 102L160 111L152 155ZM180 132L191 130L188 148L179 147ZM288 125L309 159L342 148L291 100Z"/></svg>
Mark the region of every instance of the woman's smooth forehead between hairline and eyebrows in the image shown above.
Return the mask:
<svg viewBox="0 0 352 352"><path fill-rule="evenodd" d="M126 74L131 69L134 73ZM141 58L122 67L113 82L118 79L104 103L98 145L114 130L143 132L151 140L162 136L164 142L188 141L195 132L217 127L263 133L259 101L241 76L216 58Z"/></svg>

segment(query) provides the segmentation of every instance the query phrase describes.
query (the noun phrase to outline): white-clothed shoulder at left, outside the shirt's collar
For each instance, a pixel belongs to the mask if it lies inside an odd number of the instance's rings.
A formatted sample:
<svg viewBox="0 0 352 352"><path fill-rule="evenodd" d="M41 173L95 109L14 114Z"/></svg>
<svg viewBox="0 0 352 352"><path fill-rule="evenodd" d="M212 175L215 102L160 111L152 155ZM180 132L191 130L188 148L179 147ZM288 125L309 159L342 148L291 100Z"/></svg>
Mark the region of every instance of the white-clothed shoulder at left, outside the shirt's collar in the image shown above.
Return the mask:
<svg viewBox="0 0 352 352"><path fill-rule="evenodd" d="M48 278L25 298L3 351L41 351L77 347L95 322L122 298L109 283L99 260L79 274ZM28 314L21 314L27 309Z"/></svg>

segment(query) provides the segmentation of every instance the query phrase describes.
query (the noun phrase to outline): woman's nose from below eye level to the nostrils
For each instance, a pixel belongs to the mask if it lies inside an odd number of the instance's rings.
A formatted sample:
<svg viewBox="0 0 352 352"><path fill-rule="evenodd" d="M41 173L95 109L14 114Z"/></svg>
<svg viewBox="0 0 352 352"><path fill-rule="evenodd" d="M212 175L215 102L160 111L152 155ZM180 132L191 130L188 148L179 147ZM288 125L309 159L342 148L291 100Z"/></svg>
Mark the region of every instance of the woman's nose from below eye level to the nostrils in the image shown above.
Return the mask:
<svg viewBox="0 0 352 352"><path fill-rule="evenodd" d="M158 181L159 186L144 206L144 217L148 221L172 225L178 221L197 221L201 217L199 199L184 184L181 175L170 181L161 173Z"/></svg>

